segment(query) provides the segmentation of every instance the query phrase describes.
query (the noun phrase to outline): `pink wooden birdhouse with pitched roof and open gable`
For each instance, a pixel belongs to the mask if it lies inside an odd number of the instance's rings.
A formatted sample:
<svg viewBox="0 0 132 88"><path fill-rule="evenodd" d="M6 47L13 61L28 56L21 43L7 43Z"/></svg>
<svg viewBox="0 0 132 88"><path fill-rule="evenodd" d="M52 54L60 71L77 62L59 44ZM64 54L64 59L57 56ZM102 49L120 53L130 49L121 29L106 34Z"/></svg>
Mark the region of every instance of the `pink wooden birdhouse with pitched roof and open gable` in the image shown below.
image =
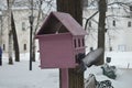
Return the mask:
<svg viewBox="0 0 132 88"><path fill-rule="evenodd" d="M85 54L85 30L68 13L51 12L36 37L41 68L74 68Z"/></svg>

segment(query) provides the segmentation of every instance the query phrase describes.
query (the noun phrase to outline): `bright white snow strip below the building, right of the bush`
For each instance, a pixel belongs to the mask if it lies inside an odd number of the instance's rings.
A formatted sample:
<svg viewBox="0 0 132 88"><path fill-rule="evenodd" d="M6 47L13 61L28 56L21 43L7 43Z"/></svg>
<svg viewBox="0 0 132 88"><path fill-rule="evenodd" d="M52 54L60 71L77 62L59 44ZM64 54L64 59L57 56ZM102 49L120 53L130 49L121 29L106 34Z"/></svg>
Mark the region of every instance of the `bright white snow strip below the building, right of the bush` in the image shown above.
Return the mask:
<svg viewBox="0 0 132 88"><path fill-rule="evenodd" d="M111 65L132 68L132 52L107 52L106 57L111 57Z"/></svg>

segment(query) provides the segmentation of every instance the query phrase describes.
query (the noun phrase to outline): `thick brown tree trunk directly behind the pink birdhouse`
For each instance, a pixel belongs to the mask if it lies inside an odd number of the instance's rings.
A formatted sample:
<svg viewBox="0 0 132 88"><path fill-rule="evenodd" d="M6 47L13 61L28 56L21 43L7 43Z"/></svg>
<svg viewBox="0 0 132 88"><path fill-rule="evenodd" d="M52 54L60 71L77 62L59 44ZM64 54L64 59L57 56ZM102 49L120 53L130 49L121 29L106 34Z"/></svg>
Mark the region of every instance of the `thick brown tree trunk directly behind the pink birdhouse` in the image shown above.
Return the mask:
<svg viewBox="0 0 132 88"><path fill-rule="evenodd" d="M82 0L57 0L57 11L72 14L82 25ZM69 88L84 88L84 73L77 74L77 70L78 67L68 69Z"/></svg>

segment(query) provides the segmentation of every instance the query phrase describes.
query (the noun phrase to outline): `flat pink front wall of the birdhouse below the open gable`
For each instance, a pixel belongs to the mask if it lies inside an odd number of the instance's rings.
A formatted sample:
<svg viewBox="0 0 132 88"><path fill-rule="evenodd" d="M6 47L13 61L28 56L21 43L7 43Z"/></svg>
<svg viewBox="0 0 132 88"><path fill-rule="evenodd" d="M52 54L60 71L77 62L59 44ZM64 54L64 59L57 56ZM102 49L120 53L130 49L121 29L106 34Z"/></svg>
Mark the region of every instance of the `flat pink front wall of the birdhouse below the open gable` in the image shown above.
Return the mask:
<svg viewBox="0 0 132 88"><path fill-rule="evenodd" d="M76 66L70 33L48 34L38 38L41 68L73 68Z"/></svg>

